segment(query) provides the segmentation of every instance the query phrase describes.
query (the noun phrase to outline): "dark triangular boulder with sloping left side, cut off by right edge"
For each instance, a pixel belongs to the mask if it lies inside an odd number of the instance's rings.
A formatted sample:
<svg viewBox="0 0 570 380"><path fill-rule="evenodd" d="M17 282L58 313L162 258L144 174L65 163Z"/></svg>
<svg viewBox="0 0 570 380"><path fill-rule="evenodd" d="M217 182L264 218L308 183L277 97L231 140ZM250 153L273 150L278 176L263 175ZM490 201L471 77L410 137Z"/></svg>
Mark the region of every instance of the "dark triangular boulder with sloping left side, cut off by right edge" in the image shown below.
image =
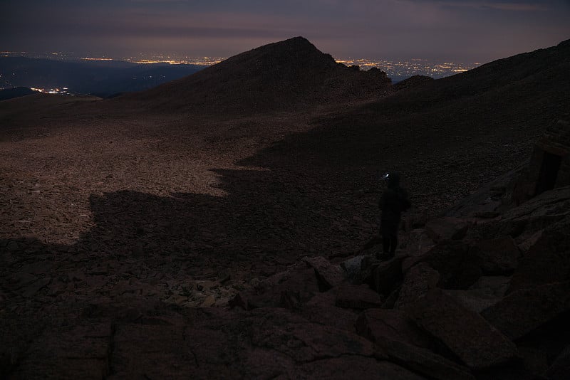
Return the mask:
<svg viewBox="0 0 570 380"><path fill-rule="evenodd" d="M509 292L570 278L570 217L546 228L511 280Z"/></svg>

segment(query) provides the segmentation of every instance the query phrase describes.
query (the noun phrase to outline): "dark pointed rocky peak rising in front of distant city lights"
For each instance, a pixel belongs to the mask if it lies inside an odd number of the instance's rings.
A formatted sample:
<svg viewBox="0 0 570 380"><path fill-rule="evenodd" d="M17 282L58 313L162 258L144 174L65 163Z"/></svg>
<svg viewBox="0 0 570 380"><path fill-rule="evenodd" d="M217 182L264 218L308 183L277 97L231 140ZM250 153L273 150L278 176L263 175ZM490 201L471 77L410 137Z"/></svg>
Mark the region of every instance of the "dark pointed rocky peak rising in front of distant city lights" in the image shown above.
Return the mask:
<svg viewBox="0 0 570 380"><path fill-rule="evenodd" d="M373 100L389 85L384 72L360 71L336 63L306 38L295 37L241 53L194 75L127 98L163 110L249 113Z"/></svg>

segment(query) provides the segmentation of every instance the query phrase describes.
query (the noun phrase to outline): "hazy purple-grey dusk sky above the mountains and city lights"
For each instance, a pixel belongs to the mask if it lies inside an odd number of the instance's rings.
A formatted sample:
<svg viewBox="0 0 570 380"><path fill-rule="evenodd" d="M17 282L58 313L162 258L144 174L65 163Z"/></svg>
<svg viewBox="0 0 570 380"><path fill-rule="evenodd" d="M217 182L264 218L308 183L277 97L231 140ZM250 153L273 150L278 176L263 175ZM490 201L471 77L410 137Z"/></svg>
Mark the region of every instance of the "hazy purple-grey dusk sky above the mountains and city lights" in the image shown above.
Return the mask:
<svg viewBox="0 0 570 380"><path fill-rule="evenodd" d="M0 0L0 51L229 57L304 36L334 58L486 63L570 38L570 0Z"/></svg>

